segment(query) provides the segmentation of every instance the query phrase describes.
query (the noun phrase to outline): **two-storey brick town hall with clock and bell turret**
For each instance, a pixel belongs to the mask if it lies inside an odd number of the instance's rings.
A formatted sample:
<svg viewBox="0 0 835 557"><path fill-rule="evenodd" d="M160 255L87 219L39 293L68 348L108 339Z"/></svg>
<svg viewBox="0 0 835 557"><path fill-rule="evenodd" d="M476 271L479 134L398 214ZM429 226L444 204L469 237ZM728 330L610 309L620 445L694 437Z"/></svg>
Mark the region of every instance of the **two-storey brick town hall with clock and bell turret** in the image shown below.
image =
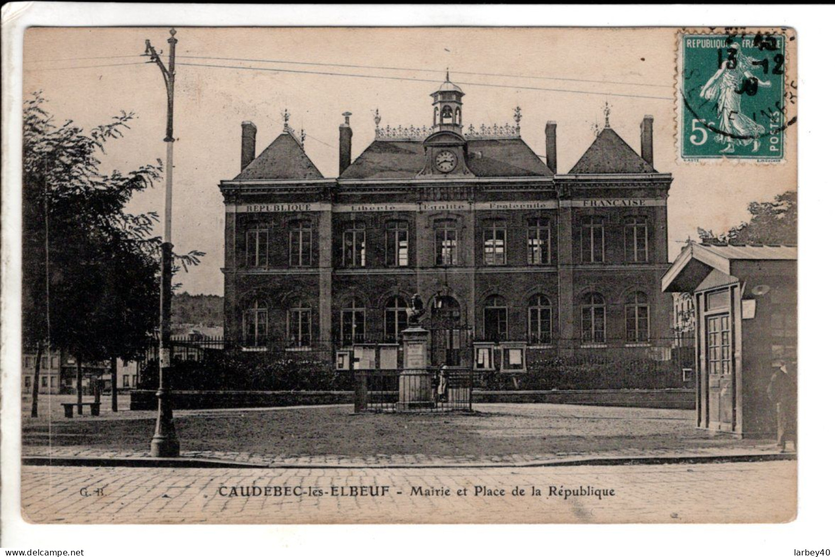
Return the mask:
<svg viewBox="0 0 835 557"><path fill-rule="evenodd" d="M256 125L242 124L240 174L220 183L226 338L397 367L418 294L433 366L520 371L531 351L665 342L672 176L653 166L652 117L640 154L607 115L557 174L556 123L543 161L521 137L519 108L515 124L475 126L449 77L431 96L431 126L381 127L377 116L356 158L343 114L336 178L321 175L287 115L257 156Z"/></svg>

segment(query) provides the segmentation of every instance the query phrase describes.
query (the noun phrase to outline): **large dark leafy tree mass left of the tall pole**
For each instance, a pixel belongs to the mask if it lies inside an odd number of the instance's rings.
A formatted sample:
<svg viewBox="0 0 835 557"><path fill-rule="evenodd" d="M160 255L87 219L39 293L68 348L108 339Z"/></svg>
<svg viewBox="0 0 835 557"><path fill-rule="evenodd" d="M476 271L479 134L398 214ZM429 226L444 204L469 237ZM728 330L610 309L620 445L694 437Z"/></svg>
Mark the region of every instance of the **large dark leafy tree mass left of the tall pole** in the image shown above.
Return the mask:
<svg viewBox="0 0 835 557"><path fill-rule="evenodd" d="M158 325L157 215L131 215L125 205L159 180L162 164L105 175L99 155L134 114L84 134L71 120L53 124L44 103L36 93L23 110L23 341L75 357L80 403L83 362L136 357ZM203 255L176 261L187 269Z"/></svg>

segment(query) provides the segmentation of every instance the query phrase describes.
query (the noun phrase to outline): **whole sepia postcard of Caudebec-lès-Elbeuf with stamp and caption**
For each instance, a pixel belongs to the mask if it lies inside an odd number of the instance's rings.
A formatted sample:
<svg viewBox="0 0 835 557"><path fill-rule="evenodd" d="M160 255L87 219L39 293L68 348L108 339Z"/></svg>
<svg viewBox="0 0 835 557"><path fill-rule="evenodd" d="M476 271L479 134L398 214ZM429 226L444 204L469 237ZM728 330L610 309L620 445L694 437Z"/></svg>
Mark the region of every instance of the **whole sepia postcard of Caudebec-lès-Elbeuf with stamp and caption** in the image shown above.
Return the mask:
<svg viewBox="0 0 835 557"><path fill-rule="evenodd" d="M28 28L19 512L792 521L797 87L779 27Z"/></svg>

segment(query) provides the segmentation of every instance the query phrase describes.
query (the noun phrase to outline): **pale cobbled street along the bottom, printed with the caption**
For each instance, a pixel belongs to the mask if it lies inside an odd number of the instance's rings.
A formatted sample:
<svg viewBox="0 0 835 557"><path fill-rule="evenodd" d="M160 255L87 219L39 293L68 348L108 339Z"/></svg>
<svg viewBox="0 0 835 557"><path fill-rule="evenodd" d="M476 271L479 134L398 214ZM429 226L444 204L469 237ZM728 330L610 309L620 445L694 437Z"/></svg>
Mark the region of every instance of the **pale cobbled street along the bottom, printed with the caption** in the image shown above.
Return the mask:
<svg viewBox="0 0 835 557"><path fill-rule="evenodd" d="M477 486L493 494L477 495ZM514 495L517 486L525 493ZM531 494L532 486L540 492ZM417 487L449 491L412 494ZM504 495L496 494L501 489ZM559 489L572 494L566 499ZM446 469L24 466L22 494L25 519L58 524L785 522L797 508L797 467L793 461Z"/></svg>

